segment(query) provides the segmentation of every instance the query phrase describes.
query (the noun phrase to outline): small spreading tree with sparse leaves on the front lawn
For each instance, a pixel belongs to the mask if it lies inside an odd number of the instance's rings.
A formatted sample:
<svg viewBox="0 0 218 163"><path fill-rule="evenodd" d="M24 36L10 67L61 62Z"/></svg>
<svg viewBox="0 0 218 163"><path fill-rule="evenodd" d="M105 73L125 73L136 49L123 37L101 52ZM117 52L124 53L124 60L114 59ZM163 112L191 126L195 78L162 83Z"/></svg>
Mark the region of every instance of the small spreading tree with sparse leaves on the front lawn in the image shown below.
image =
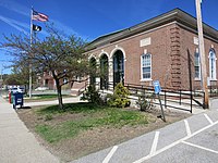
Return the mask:
<svg viewBox="0 0 218 163"><path fill-rule="evenodd" d="M63 109L61 87L77 80L77 76L88 73L87 57L84 54L86 41L76 36L63 36L52 27L47 27L48 36L43 40L37 37L11 35L5 37L2 48L9 48L14 65L26 68L32 65L33 73L51 72L56 82L59 108ZM68 78L62 83L63 78Z"/></svg>

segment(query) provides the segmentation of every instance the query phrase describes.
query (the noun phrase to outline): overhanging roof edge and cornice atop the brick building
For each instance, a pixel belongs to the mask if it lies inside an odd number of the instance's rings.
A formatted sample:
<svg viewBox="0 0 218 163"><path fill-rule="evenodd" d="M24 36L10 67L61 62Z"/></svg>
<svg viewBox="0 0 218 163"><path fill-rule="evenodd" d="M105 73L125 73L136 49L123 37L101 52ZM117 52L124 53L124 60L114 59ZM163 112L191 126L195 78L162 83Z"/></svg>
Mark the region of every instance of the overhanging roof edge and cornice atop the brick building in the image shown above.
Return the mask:
<svg viewBox="0 0 218 163"><path fill-rule="evenodd" d="M173 22L173 21L178 21L178 22L197 30L196 17L194 17L193 15L189 14L187 12L185 12L179 8L175 8L169 12L162 13L158 16L155 16L145 22L138 23L129 28L124 28L121 30L117 30L117 32L100 36L100 37L94 39L90 43L88 43L87 51L96 49L99 46L114 42L116 40L130 37L132 35L148 30L150 28L154 28L154 27L157 27L157 26L160 26L162 24L167 24L167 23ZM204 33L206 35L209 35L210 37L218 39L218 30L217 29L213 28L211 26L207 25L206 23L203 23L203 27L204 27Z"/></svg>

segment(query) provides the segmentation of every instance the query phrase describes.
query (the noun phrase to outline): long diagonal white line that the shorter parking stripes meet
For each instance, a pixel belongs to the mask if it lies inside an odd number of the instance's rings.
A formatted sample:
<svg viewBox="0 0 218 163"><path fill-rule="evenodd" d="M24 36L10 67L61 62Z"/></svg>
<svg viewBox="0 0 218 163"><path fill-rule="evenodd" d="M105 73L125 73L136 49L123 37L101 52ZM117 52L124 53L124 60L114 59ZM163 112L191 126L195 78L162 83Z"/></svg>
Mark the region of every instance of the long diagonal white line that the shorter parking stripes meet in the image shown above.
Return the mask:
<svg viewBox="0 0 218 163"><path fill-rule="evenodd" d="M180 139L180 140L177 140L177 141L164 147L162 149L157 150L153 155L148 154L148 155L146 155L144 158L141 158L140 160L137 160L137 161L135 161L133 163L142 163L142 162L144 162L144 161L146 161L146 160L148 160L148 159L150 159L150 158L153 158L153 156L155 156L155 155L157 155L157 154L159 154L161 152L165 152L166 150L168 150L168 149L170 149L170 148L183 142L184 140L186 140L186 139L189 139L189 138L191 138L191 137L193 137L193 136L195 136L195 135L197 135L197 134L199 134L199 133L202 133L202 131L204 131L204 130L206 130L206 129L208 129L210 127L213 127L216 124L218 124L218 121L213 123L213 124L210 124L210 125L208 125L208 126L206 126L206 127L204 127L204 128L202 128L202 129L199 129L199 130L197 130L197 131L195 131L195 133L193 133L193 134L191 134L190 136L186 136L186 137Z"/></svg>

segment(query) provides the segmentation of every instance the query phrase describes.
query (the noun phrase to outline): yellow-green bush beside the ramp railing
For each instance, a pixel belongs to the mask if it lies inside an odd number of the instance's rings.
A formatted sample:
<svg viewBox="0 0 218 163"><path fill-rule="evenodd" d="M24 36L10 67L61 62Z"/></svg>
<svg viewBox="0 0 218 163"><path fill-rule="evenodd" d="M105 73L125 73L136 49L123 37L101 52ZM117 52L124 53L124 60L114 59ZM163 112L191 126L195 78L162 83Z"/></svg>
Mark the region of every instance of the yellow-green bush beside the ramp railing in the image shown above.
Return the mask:
<svg viewBox="0 0 218 163"><path fill-rule="evenodd" d="M130 100L128 96L129 90L120 83L116 86L113 95L109 95L108 104L116 108L124 108L130 105Z"/></svg>

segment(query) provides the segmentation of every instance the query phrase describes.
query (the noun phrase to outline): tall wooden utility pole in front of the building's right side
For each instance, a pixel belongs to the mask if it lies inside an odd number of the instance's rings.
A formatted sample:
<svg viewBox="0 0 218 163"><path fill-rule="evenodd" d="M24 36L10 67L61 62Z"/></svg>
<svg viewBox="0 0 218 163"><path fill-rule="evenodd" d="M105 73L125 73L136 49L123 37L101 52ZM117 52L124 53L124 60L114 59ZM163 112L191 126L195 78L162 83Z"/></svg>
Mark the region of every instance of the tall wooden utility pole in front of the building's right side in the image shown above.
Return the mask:
<svg viewBox="0 0 218 163"><path fill-rule="evenodd" d="M201 57L201 67L202 67L202 88L205 93L204 96L204 109L208 109L208 90L207 90L207 67L205 61L205 47L204 47L204 36L203 36L203 23L202 23L202 0L195 0L196 3L196 14L197 14L197 29L198 29L198 47Z"/></svg>

